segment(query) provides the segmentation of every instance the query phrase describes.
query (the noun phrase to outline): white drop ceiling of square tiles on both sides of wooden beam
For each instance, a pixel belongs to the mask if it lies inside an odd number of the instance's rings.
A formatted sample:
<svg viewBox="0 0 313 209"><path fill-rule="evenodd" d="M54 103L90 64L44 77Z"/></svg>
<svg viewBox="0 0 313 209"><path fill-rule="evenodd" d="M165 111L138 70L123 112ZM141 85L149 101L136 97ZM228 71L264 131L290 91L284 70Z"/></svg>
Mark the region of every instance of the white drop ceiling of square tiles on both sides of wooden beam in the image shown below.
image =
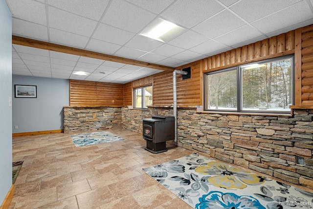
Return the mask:
<svg viewBox="0 0 313 209"><path fill-rule="evenodd" d="M172 68L313 23L313 0L6 2L14 36ZM166 43L139 35L157 18L185 31ZM127 83L161 71L12 45L12 73L17 75Z"/></svg>

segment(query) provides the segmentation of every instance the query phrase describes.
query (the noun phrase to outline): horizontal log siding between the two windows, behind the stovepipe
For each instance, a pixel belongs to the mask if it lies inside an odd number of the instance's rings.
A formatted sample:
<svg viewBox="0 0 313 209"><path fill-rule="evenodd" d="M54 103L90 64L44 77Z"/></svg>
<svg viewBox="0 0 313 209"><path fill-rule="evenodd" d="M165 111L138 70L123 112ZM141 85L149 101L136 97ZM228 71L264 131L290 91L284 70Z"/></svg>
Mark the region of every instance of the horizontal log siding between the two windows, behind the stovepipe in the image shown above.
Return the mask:
<svg viewBox="0 0 313 209"><path fill-rule="evenodd" d="M177 74L177 105L201 105L201 63L201 61L198 61L194 62L191 66L183 67L191 67L191 78L189 79L182 80L182 75ZM153 105L170 106L171 104L173 104L173 73L158 73L154 75Z"/></svg>

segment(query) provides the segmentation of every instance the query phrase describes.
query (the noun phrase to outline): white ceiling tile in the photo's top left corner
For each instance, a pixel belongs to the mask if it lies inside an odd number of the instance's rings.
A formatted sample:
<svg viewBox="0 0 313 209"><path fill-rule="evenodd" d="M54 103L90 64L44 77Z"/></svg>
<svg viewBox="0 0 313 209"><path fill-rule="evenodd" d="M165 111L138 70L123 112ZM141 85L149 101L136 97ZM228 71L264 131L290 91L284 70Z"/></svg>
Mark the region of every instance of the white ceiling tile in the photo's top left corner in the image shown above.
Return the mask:
<svg viewBox="0 0 313 209"><path fill-rule="evenodd" d="M46 25L45 4L34 0L7 0L12 17Z"/></svg>

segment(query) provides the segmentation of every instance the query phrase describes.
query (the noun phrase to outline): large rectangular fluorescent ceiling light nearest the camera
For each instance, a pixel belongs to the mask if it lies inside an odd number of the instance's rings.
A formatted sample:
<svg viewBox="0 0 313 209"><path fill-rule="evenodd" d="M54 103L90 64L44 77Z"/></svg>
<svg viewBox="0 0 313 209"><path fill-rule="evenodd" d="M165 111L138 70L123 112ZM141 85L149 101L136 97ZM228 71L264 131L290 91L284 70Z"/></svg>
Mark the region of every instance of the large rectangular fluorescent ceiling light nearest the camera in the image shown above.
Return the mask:
<svg viewBox="0 0 313 209"><path fill-rule="evenodd" d="M174 23L158 18L150 23L140 33L140 35L155 39L157 41L167 42L182 33L183 31L185 31L184 28Z"/></svg>

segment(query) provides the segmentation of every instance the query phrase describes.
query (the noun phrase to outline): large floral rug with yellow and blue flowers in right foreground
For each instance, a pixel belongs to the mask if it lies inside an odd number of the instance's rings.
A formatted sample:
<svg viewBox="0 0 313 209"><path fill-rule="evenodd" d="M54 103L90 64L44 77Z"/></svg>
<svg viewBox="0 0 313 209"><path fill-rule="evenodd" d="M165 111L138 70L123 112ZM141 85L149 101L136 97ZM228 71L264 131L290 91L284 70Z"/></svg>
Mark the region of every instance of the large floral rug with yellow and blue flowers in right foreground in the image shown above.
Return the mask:
<svg viewBox="0 0 313 209"><path fill-rule="evenodd" d="M195 209L313 208L313 193L197 153L143 171Z"/></svg>

